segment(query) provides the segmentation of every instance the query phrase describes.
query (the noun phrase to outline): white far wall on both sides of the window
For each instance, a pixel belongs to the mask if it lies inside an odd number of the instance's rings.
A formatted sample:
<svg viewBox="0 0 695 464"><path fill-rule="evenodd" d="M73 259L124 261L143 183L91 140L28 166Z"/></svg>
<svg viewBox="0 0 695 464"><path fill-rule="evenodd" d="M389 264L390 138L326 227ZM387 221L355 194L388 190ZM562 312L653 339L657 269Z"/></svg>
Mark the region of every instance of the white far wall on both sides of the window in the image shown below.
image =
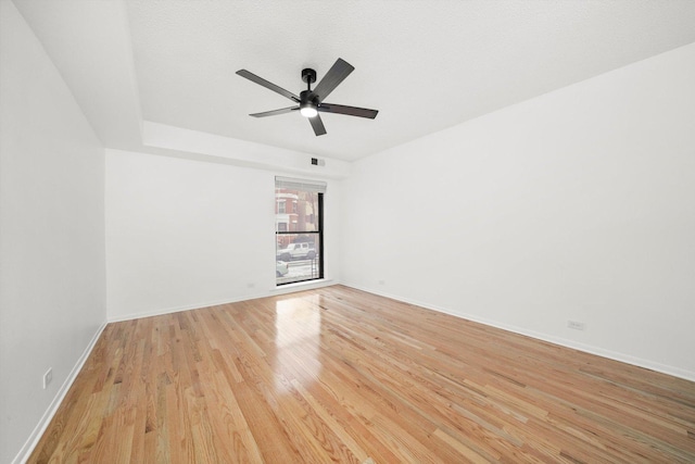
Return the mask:
<svg viewBox="0 0 695 464"><path fill-rule="evenodd" d="M109 319L270 294L275 174L106 150ZM325 200L325 275L337 281L339 181Z"/></svg>

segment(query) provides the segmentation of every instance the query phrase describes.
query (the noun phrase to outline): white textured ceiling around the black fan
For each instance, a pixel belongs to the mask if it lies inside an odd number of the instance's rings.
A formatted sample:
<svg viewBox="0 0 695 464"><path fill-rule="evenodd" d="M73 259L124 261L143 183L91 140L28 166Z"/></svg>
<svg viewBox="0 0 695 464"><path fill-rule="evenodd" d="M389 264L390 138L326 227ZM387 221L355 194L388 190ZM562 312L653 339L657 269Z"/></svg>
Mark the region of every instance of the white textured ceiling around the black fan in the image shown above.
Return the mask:
<svg viewBox="0 0 695 464"><path fill-rule="evenodd" d="M96 8L100 2L91 3ZM121 33L103 41L125 37L113 40L127 46L131 60L135 91L128 95L135 95L139 105L132 114L344 161L695 41L692 0L101 3L123 5L121 18L110 14L111 20L99 21L121 22L117 27L112 24ZM86 13L79 1L15 4L68 85L75 81L71 75L86 80L96 72L90 70L113 66L113 53L85 53L79 62L79 53L67 46L61 50L55 37L51 41L58 29L78 30L77 23L88 20L80 16ZM315 137L298 113L248 115L291 102L236 71L247 68L299 93L305 86L300 78L303 67L315 68L320 79L338 58L355 71L329 100L377 109L376 120L324 114L328 134ZM118 86L94 90L98 95L90 98L72 87L83 106L93 106L109 92L123 93ZM86 108L85 113L94 127L104 125L103 109Z"/></svg>

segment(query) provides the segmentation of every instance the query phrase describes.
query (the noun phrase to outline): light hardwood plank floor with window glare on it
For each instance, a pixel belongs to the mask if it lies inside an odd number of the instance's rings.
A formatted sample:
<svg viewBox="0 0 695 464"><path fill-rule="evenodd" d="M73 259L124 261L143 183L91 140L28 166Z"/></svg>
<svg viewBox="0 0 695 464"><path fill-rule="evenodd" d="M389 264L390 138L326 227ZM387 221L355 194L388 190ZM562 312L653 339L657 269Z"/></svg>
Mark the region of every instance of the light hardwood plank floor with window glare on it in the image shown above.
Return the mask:
<svg viewBox="0 0 695 464"><path fill-rule="evenodd" d="M343 286L110 324L29 462L695 462L695 383Z"/></svg>

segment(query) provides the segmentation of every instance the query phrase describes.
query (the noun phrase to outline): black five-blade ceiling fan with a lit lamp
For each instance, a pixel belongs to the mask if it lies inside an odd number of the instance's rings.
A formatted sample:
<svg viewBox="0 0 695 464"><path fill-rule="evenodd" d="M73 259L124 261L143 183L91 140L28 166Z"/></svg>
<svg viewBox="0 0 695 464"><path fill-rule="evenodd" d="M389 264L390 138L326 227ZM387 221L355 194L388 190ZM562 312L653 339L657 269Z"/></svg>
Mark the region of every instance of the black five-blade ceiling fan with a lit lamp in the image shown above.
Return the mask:
<svg viewBox="0 0 695 464"><path fill-rule="evenodd" d="M298 103L294 106L266 111L263 113L254 113L250 114L250 116L275 116L277 114L291 113L292 111L299 110L302 116L306 117L312 124L314 134L316 134L316 136L323 136L324 134L326 134L326 128L324 127L324 122L321 121L321 116L319 116L318 113L345 114L348 116L368 117L370 120L377 117L377 110L345 106L343 104L333 104L324 101L326 97L328 97L329 93L332 92L333 89L338 87L338 85L342 83L345 77L348 77L354 70L355 68L350 63L339 58L331 66L331 68L328 70L328 73L326 73L324 78L316 85L314 90L312 90L312 84L316 81L316 71L311 68L302 70L302 80L306 83L306 90L301 91L299 97L291 91L285 90L283 88L276 86L275 84L269 83L253 73L250 73L247 70L239 70L237 71L237 74L267 89L270 89L274 92L280 93L282 97L289 98L294 103Z"/></svg>

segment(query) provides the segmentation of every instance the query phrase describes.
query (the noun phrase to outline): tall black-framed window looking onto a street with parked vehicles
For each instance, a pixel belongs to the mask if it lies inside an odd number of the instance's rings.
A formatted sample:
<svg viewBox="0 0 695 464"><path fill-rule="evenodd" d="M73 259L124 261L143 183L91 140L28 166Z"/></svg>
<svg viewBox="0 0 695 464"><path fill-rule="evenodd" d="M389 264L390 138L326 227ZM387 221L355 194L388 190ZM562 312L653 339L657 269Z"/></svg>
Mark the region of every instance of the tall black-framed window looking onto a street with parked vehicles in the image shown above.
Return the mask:
<svg viewBox="0 0 695 464"><path fill-rule="evenodd" d="M326 183L275 178L276 284L324 278Z"/></svg>

